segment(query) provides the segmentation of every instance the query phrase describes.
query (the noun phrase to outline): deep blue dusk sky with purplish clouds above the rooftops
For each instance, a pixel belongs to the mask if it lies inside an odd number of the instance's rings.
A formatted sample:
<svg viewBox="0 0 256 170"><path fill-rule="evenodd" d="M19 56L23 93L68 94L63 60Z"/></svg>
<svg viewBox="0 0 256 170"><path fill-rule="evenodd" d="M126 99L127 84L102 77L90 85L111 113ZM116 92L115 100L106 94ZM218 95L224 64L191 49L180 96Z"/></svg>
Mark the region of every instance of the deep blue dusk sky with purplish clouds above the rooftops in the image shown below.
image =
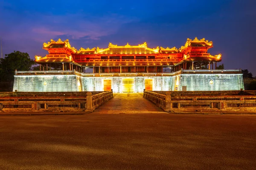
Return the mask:
<svg viewBox="0 0 256 170"><path fill-rule="evenodd" d="M77 49L109 42L180 48L187 38L205 38L225 69L256 76L255 8L256 0L0 0L0 37L3 55L22 51L32 59L58 38Z"/></svg>

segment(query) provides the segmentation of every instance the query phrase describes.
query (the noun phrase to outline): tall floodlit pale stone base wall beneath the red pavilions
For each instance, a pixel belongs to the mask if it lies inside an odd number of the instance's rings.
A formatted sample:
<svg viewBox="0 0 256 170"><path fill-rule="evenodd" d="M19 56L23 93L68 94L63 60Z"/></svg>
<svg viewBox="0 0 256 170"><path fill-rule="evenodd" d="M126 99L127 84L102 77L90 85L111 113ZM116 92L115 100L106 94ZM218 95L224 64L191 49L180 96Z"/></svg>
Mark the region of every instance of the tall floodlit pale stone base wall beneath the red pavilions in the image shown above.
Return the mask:
<svg viewBox="0 0 256 170"><path fill-rule="evenodd" d="M103 91L111 80L114 93L123 92L123 79L134 79L134 92L143 92L145 79L153 91L227 91L244 89L241 70L181 70L174 73L104 73L77 71L15 71L13 91Z"/></svg>

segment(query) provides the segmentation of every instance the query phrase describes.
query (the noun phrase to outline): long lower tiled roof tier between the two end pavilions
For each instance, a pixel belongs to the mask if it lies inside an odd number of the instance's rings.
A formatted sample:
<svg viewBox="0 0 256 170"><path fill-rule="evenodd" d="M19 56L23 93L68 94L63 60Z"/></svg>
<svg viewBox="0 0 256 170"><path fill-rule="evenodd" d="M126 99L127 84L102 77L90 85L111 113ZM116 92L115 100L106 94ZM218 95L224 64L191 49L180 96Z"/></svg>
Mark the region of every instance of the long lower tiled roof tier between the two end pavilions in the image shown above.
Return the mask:
<svg viewBox="0 0 256 170"><path fill-rule="evenodd" d="M93 67L93 66L172 66L177 62L172 61L144 61L144 62L78 62L80 65Z"/></svg>

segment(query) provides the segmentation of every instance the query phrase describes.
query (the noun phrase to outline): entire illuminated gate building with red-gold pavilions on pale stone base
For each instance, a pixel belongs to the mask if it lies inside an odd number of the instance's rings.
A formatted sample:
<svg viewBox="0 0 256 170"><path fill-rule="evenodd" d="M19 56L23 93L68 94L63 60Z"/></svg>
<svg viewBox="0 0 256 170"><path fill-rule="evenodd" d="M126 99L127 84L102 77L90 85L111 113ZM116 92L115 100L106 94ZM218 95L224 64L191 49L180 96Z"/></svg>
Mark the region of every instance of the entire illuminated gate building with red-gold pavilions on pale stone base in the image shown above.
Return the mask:
<svg viewBox="0 0 256 170"><path fill-rule="evenodd" d="M244 89L241 70L216 70L221 54L212 41L187 39L180 48L147 43L108 48L71 47L69 40L43 44L40 71L16 71L13 91L220 91ZM86 73L91 69L92 73Z"/></svg>

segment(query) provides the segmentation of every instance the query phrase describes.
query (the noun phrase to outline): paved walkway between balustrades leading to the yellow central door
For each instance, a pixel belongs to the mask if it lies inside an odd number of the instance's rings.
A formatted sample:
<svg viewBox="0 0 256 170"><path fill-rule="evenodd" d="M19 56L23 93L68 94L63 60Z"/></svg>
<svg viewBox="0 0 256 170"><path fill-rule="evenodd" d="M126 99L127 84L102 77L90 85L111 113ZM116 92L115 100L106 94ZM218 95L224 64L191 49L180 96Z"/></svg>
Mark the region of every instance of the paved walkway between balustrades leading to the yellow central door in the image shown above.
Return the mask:
<svg viewBox="0 0 256 170"><path fill-rule="evenodd" d="M113 94L113 99L101 105L93 113L166 113L154 103L143 98L143 93Z"/></svg>

